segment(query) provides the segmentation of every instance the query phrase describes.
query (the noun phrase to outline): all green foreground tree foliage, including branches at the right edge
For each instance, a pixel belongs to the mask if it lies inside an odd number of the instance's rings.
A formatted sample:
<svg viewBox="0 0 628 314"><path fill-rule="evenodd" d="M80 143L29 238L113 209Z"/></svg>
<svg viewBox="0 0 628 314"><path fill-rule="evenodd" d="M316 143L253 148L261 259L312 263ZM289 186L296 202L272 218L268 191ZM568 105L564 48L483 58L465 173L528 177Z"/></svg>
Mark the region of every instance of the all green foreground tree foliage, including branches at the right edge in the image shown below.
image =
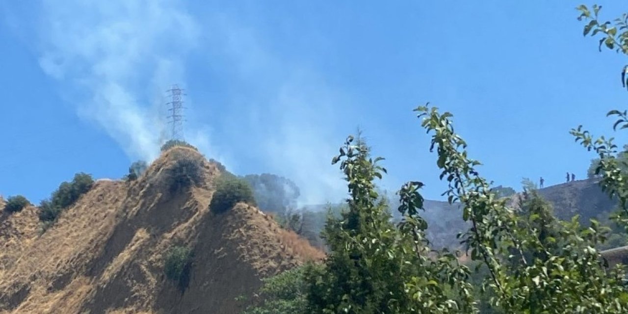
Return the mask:
<svg viewBox="0 0 628 314"><path fill-rule="evenodd" d="M603 33L608 48L628 54L627 16L600 23L585 6L580 18L593 18L585 35ZM430 251L425 241L428 227L421 219L422 184L410 181L399 190L403 221L390 222L387 202L374 184L386 170L372 159L360 141L348 138L340 162L350 197L349 210L330 217L323 232L330 252L322 268L306 267L306 305L295 313L628 313L628 287L624 269L609 268L597 249L607 229L591 220L583 226L574 217L555 219L551 206L526 185L519 203L506 205L480 175L480 162L468 157L467 143L453 131L452 114L436 107L415 109L421 126L431 136L431 151L441 180L448 182L444 195L462 204L462 219L470 229L459 237L467 248L470 269L447 251ZM619 119L614 127L628 128L627 112L611 111ZM620 203L618 224L628 227L628 176L617 160L612 139L593 139L582 126L571 130L576 140L596 151L600 184ZM276 297L277 300L281 296Z"/></svg>

